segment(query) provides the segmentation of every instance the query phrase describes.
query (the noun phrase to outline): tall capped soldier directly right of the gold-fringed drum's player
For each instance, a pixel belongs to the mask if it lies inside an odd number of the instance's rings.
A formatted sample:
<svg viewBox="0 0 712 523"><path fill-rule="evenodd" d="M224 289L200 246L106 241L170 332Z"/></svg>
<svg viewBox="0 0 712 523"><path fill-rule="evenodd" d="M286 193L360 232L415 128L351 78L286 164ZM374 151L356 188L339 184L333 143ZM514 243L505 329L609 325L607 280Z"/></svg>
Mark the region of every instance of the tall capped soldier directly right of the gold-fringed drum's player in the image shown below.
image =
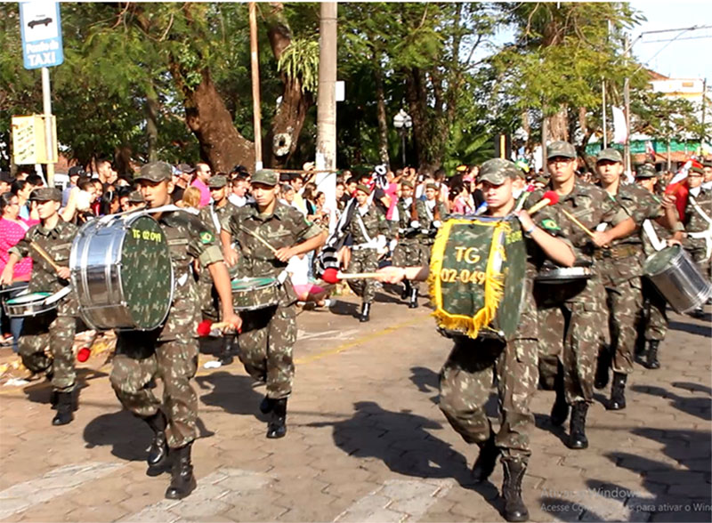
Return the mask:
<svg viewBox="0 0 712 523"><path fill-rule="evenodd" d="M551 173L548 188L559 195L554 205L555 221L563 236L570 240L577 253L577 265L590 265L596 250L617 237L625 237L635 229L635 223L620 205L608 197L603 189L577 179L576 149L570 143L554 141L546 149L547 166ZM534 193L530 201L541 195ZM565 209L587 229L595 229L601 222L613 224L605 232L596 232L595 239L587 235L561 212ZM595 272L595 271L594 271ZM569 416L570 433L566 444L570 448L586 448L586 416L593 403L596 355L601 344L601 325L606 321L605 290L599 276L589 279L563 281L557 284L537 284L538 322L546 325L539 332L541 357L556 357L554 376L556 400L551 411L551 422L561 425ZM546 368L540 367L540 371ZM546 379L544 380L546 382Z"/></svg>

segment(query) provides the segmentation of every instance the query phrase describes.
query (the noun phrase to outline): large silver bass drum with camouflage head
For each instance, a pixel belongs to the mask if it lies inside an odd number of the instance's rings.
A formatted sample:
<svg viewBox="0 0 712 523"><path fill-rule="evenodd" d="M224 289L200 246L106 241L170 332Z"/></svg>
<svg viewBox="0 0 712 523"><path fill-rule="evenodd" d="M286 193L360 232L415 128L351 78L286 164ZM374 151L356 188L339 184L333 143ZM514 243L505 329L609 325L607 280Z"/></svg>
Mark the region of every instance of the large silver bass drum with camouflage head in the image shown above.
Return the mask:
<svg viewBox="0 0 712 523"><path fill-rule="evenodd" d="M166 234L148 214L87 221L72 243L69 269L79 312L93 329L150 331L166 320L173 265Z"/></svg>

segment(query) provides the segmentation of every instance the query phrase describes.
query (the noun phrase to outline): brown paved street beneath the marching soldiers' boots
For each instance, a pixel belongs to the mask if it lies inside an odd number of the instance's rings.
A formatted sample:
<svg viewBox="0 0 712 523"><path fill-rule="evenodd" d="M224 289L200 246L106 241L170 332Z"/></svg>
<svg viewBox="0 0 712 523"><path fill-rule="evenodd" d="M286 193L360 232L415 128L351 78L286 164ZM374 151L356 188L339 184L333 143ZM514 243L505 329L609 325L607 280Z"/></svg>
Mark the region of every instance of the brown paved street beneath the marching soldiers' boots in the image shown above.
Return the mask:
<svg viewBox="0 0 712 523"><path fill-rule="evenodd" d="M46 383L0 387L0 519L502 520L500 468L474 485L475 449L436 405L449 342L430 310L379 298L368 324L352 317L352 297L300 314L285 439L264 438L263 389L237 360L208 370L201 357L198 488L182 501L163 498L167 474L146 475L150 430L120 409L109 366L83 369L80 409L63 427L50 424ZM548 422L553 393L538 391L523 489L532 520L712 519L710 319L672 315L662 368L635 367L626 410L607 412L608 390L596 395L585 451L563 446Z"/></svg>

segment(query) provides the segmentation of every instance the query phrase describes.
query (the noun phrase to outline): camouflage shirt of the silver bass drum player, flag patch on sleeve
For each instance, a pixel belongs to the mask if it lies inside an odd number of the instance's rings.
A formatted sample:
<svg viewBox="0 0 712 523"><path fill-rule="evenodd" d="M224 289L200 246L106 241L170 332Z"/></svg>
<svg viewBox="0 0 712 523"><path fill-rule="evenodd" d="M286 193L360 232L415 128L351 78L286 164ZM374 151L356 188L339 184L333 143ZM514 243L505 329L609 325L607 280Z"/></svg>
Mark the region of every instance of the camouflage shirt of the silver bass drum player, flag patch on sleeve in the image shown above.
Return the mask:
<svg viewBox="0 0 712 523"><path fill-rule="evenodd" d="M166 233L174 271L173 303L166 323L159 328L159 340L196 337L200 301L192 278L192 261L197 259L201 267L207 267L223 261L223 252L213 232L195 214L183 211L162 213L158 223Z"/></svg>

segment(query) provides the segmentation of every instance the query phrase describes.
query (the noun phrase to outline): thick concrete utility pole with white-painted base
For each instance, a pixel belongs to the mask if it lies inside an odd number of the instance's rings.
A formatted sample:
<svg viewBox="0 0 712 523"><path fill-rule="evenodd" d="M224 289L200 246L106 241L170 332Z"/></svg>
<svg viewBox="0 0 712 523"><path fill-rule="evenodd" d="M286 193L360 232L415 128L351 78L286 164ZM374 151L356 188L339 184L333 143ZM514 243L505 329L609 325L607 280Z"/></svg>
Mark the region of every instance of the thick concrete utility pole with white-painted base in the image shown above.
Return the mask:
<svg viewBox="0 0 712 523"><path fill-rule="evenodd" d="M327 198L327 206L336 209L336 2L320 4L319 22L319 92L317 93L316 183ZM332 225L334 220L330 220Z"/></svg>

